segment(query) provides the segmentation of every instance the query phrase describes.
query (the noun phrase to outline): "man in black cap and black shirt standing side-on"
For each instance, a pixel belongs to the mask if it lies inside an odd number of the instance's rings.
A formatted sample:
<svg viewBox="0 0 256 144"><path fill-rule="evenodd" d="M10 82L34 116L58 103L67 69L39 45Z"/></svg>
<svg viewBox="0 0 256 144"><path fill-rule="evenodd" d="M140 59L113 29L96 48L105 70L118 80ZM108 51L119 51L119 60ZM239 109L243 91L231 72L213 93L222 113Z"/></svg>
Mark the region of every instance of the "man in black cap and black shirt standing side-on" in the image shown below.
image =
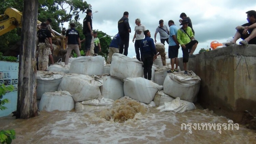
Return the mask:
<svg viewBox="0 0 256 144"><path fill-rule="evenodd" d="M85 35L85 51L86 56L91 56L90 54L90 47L91 47L91 40L93 39L93 24L91 20L92 11L87 9L86 17L83 20L83 34Z"/></svg>

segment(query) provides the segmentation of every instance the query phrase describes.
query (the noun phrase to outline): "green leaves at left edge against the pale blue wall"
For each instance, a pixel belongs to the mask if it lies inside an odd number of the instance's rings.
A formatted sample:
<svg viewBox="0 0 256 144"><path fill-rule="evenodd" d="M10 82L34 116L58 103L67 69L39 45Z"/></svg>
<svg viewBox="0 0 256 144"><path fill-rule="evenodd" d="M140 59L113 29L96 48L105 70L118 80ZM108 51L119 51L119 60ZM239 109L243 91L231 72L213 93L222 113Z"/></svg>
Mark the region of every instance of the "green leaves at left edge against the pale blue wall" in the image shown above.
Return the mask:
<svg viewBox="0 0 256 144"><path fill-rule="evenodd" d="M5 95L6 92L10 92L14 90L13 85L9 85L8 87L5 87L4 84L0 85L0 110L5 110L6 107L3 106L5 103L9 103L10 101L8 99L3 99L3 95Z"/></svg>

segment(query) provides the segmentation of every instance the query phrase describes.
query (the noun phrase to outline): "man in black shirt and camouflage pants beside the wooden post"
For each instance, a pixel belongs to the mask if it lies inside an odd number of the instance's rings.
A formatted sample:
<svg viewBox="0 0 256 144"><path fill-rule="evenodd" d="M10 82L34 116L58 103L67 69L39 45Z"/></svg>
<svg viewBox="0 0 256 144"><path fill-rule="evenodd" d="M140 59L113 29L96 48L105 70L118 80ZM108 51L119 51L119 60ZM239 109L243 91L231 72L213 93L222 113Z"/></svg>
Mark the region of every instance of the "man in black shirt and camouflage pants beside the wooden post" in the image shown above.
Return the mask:
<svg viewBox="0 0 256 144"><path fill-rule="evenodd" d="M42 29L37 31L38 41L39 41L38 70L45 71L48 67L48 61L49 61L48 55L52 54L51 50L53 49L53 46L52 46L51 31L49 29L46 29L45 23L42 23L41 26L42 26ZM49 39L51 47L46 47L45 45L46 38Z"/></svg>

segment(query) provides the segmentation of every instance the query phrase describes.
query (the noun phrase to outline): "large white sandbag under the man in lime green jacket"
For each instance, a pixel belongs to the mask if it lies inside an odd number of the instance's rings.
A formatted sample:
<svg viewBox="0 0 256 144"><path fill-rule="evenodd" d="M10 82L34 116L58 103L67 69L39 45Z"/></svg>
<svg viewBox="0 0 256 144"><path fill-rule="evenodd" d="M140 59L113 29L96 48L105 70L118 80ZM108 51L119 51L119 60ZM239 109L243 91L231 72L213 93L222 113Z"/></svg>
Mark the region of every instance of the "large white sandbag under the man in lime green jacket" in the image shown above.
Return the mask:
<svg viewBox="0 0 256 144"><path fill-rule="evenodd" d="M200 89L201 79L193 71L188 71L189 74L186 75L183 72L168 74L163 83L163 92L174 98L179 97L194 102Z"/></svg>

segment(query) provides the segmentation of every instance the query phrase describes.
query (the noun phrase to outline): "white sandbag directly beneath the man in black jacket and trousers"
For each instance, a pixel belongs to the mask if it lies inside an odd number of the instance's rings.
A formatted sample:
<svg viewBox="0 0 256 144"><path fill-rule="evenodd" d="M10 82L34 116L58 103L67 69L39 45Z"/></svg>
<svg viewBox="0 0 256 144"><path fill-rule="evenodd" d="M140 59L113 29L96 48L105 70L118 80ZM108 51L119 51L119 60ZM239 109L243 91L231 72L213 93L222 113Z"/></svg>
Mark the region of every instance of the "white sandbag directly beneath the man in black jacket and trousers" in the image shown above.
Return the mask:
<svg viewBox="0 0 256 144"><path fill-rule="evenodd" d="M110 65L110 75L124 79L127 77L142 77L142 62L129 58L125 55L115 53Z"/></svg>

